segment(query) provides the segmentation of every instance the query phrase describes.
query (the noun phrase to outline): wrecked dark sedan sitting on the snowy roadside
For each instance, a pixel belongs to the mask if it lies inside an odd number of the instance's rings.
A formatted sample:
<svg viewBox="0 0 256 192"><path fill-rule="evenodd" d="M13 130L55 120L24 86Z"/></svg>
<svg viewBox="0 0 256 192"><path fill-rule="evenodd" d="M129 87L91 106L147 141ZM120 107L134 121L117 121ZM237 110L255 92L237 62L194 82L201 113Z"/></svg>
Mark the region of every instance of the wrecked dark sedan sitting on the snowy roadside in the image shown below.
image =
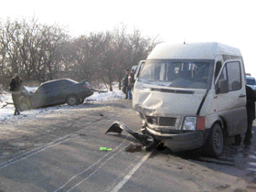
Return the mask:
<svg viewBox="0 0 256 192"><path fill-rule="evenodd" d="M80 104L93 94L87 80L62 79L42 83L33 92L22 91L19 99L20 111L68 103L70 106Z"/></svg>

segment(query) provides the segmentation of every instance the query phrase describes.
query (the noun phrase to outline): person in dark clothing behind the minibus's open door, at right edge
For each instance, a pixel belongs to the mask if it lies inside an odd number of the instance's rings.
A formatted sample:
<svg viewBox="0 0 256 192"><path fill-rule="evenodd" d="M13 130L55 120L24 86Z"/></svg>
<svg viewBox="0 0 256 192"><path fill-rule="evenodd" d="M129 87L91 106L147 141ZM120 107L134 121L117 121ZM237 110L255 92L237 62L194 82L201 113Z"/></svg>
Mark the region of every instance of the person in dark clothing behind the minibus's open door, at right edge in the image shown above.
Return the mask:
<svg viewBox="0 0 256 192"><path fill-rule="evenodd" d="M249 147L251 145L251 137L252 137L252 122L255 119L255 101L256 94L249 86L246 87L246 109L247 109L247 131L245 133L245 138L243 140L243 144L245 147ZM235 135L235 143L233 145L240 145L241 136L240 134Z"/></svg>

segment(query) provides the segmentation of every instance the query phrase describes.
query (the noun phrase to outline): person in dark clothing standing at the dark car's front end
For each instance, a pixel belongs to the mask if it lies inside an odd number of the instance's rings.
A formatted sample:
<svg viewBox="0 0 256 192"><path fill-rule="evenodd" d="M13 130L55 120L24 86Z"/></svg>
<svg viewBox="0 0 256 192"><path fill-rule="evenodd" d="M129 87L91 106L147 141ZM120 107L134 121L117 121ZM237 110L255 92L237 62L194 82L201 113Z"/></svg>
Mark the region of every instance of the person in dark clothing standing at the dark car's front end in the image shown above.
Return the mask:
<svg viewBox="0 0 256 192"><path fill-rule="evenodd" d="M20 91L22 90L22 79L19 76L19 74L16 74L15 77L12 78L11 83L10 83L10 91L12 91L12 98L14 101L14 105L15 105L15 113L14 115L19 115L19 103L18 103L18 99L20 97Z"/></svg>

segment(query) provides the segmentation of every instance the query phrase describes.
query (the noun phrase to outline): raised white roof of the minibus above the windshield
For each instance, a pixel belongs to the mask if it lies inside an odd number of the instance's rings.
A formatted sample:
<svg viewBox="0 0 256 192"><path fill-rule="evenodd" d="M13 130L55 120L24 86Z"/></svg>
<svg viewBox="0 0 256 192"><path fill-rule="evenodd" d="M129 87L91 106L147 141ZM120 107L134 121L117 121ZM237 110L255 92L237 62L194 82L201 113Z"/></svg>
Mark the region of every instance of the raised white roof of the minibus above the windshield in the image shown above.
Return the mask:
<svg viewBox="0 0 256 192"><path fill-rule="evenodd" d="M217 42L159 44L147 59L216 59L218 55L240 56L240 49Z"/></svg>

